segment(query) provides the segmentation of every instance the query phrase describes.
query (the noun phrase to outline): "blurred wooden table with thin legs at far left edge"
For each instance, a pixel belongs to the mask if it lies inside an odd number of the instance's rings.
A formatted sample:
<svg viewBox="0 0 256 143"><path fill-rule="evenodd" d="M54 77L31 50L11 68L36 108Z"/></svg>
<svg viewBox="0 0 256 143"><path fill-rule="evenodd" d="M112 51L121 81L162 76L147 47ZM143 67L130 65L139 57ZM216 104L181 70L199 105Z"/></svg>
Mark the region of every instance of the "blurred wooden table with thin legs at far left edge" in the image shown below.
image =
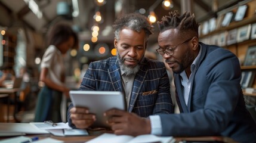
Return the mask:
<svg viewBox="0 0 256 143"><path fill-rule="evenodd" d="M20 91L20 88L13 88L13 89L8 89L8 88L0 88L0 94L8 94L8 113L7 113L7 116L8 116L8 118L7 118L7 122L9 122L9 112L10 112L10 107L9 107L9 105L10 105L10 97L11 97L11 95L14 95L14 114L13 114L13 117L14 117L14 120L16 121L16 122L18 122L18 119L17 119L17 117L16 117L16 112L17 112L17 95L16 95L16 93L18 92L18 91Z"/></svg>

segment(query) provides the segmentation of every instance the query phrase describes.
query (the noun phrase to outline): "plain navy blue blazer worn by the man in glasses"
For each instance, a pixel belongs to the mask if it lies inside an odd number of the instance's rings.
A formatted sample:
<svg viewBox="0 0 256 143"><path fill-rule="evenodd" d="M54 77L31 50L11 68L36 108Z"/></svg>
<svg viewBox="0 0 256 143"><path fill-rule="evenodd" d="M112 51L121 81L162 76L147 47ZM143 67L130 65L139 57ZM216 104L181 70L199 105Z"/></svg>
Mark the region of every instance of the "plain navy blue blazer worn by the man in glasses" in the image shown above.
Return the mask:
<svg viewBox="0 0 256 143"><path fill-rule="evenodd" d="M181 114L160 115L163 135L229 136L256 142L256 125L245 108L239 60L227 49L200 43L202 54L185 104L180 74L174 74Z"/></svg>

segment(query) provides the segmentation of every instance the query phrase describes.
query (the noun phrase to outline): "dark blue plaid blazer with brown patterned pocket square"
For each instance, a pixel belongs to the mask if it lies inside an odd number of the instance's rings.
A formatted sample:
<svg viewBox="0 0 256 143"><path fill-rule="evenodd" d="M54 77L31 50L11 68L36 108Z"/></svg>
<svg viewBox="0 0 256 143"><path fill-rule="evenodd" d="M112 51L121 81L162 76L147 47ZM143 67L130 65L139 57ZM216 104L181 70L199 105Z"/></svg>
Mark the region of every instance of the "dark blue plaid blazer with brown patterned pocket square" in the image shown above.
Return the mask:
<svg viewBox="0 0 256 143"><path fill-rule="evenodd" d="M135 75L128 111L140 117L173 113L169 86L164 63L144 58ZM79 90L124 93L118 58L115 56L90 63ZM72 107L70 104L69 109ZM69 116L68 111L70 122Z"/></svg>

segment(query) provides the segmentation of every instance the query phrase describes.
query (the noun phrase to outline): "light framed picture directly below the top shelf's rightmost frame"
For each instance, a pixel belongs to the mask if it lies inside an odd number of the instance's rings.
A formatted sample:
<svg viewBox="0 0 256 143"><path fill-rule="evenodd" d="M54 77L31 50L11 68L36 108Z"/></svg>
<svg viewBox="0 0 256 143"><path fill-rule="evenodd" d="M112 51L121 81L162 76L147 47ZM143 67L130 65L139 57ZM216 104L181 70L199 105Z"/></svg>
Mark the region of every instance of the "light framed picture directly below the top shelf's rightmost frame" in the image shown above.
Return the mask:
<svg viewBox="0 0 256 143"><path fill-rule="evenodd" d="M250 36L250 32L251 32L251 24L240 27L238 29L237 41L242 42L242 41L248 40Z"/></svg>

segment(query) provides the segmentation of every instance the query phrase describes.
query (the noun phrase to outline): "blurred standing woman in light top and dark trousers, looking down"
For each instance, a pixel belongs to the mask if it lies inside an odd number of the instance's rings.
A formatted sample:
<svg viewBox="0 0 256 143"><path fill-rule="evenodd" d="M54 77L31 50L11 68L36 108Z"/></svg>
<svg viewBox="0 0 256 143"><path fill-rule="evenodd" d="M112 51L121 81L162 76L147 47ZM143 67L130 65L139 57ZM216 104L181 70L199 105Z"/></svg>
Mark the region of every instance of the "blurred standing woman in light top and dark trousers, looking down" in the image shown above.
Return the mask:
<svg viewBox="0 0 256 143"><path fill-rule="evenodd" d="M78 48L78 36L68 24L55 24L47 35L48 48L42 57L39 80L44 83L38 94L35 122L52 120L61 122L62 94L69 98L69 88L64 85L63 55Z"/></svg>

